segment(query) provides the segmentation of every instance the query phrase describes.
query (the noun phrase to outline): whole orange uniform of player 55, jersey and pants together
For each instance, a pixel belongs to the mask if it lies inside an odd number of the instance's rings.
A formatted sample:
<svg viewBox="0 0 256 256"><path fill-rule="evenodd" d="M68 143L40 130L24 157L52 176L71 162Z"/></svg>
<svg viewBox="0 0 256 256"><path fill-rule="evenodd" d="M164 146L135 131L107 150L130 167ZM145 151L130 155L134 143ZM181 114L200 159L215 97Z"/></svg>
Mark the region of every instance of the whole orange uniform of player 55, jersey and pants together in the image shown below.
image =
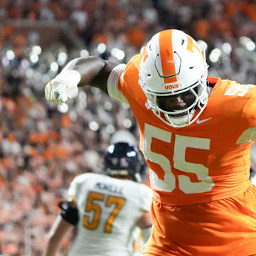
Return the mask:
<svg viewBox="0 0 256 256"><path fill-rule="evenodd" d="M201 116L173 128L149 110L138 84L141 55L110 74L112 97L129 103L150 169L154 223L146 256L256 254L256 87L218 79ZM118 90L117 88L118 87Z"/></svg>

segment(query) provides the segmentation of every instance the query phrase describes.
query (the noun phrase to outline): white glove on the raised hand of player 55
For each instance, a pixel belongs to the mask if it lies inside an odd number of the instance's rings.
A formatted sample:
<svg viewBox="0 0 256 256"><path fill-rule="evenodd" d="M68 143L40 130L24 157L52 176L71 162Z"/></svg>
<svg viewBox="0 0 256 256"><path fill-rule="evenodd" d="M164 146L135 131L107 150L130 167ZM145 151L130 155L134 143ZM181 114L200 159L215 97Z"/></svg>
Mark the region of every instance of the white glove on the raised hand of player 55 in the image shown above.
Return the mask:
<svg viewBox="0 0 256 256"><path fill-rule="evenodd" d="M80 73L76 70L63 70L46 85L46 100L62 104L77 97L80 78Z"/></svg>

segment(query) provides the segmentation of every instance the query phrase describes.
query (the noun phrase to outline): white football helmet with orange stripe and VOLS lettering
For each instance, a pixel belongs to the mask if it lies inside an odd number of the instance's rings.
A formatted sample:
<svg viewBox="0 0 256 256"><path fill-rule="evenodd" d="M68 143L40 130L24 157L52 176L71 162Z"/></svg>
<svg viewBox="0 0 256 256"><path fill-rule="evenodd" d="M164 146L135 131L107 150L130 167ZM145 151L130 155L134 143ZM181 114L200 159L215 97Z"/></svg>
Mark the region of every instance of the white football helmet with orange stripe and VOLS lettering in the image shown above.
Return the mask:
<svg viewBox="0 0 256 256"><path fill-rule="evenodd" d="M207 75L204 51L183 31L169 29L156 33L144 47L139 84L146 94L147 107L171 127L192 124L203 112L208 102ZM158 96L188 91L195 95L195 100L186 109L166 111L157 103Z"/></svg>

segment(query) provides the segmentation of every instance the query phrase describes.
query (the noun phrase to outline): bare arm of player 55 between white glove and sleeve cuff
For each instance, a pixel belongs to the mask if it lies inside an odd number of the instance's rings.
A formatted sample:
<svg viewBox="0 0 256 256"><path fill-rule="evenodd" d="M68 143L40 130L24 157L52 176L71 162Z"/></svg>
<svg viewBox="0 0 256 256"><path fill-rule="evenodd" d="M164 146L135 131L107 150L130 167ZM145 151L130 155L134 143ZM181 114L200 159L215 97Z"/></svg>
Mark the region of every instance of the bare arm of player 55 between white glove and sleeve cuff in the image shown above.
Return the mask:
<svg viewBox="0 0 256 256"><path fill-rule="evenodd" d="M111 63L99 57L76 58L68 63L65 70L76 70L80 74L78 86L91 85L107 92L107 78L116 63Z"/></svg>

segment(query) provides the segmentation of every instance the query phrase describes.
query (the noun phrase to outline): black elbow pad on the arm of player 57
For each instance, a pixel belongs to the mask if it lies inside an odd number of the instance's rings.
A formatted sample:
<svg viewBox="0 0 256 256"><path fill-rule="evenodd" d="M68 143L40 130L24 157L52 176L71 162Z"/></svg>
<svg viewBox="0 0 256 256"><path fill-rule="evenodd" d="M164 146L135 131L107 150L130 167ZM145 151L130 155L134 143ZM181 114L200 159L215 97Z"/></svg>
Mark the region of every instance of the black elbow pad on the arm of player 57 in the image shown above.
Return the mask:
<svg viewBox="0 0 256 256"><path fill-rule="evenodd" d="M78 209L71 205L71 202L61 201L58 206L60 207L60 216L72 225L76 225L79 220Z"/></svg>

